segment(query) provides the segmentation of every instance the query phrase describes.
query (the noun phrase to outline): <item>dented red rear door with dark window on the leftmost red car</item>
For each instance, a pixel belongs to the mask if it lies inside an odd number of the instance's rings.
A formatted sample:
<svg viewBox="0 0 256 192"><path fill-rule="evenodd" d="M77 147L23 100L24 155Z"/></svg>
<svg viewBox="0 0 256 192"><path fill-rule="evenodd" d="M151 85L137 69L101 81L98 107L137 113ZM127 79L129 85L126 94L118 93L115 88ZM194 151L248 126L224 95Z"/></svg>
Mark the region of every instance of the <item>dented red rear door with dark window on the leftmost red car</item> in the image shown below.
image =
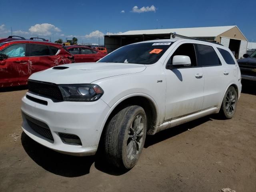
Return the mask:
<svg viewBox="0 0 256 192"><path fill-rule="evenodd" d="M54 50L43 44L27 44L30 74L58 65ZM58 51L58 50L57 50Z"/></svg>

